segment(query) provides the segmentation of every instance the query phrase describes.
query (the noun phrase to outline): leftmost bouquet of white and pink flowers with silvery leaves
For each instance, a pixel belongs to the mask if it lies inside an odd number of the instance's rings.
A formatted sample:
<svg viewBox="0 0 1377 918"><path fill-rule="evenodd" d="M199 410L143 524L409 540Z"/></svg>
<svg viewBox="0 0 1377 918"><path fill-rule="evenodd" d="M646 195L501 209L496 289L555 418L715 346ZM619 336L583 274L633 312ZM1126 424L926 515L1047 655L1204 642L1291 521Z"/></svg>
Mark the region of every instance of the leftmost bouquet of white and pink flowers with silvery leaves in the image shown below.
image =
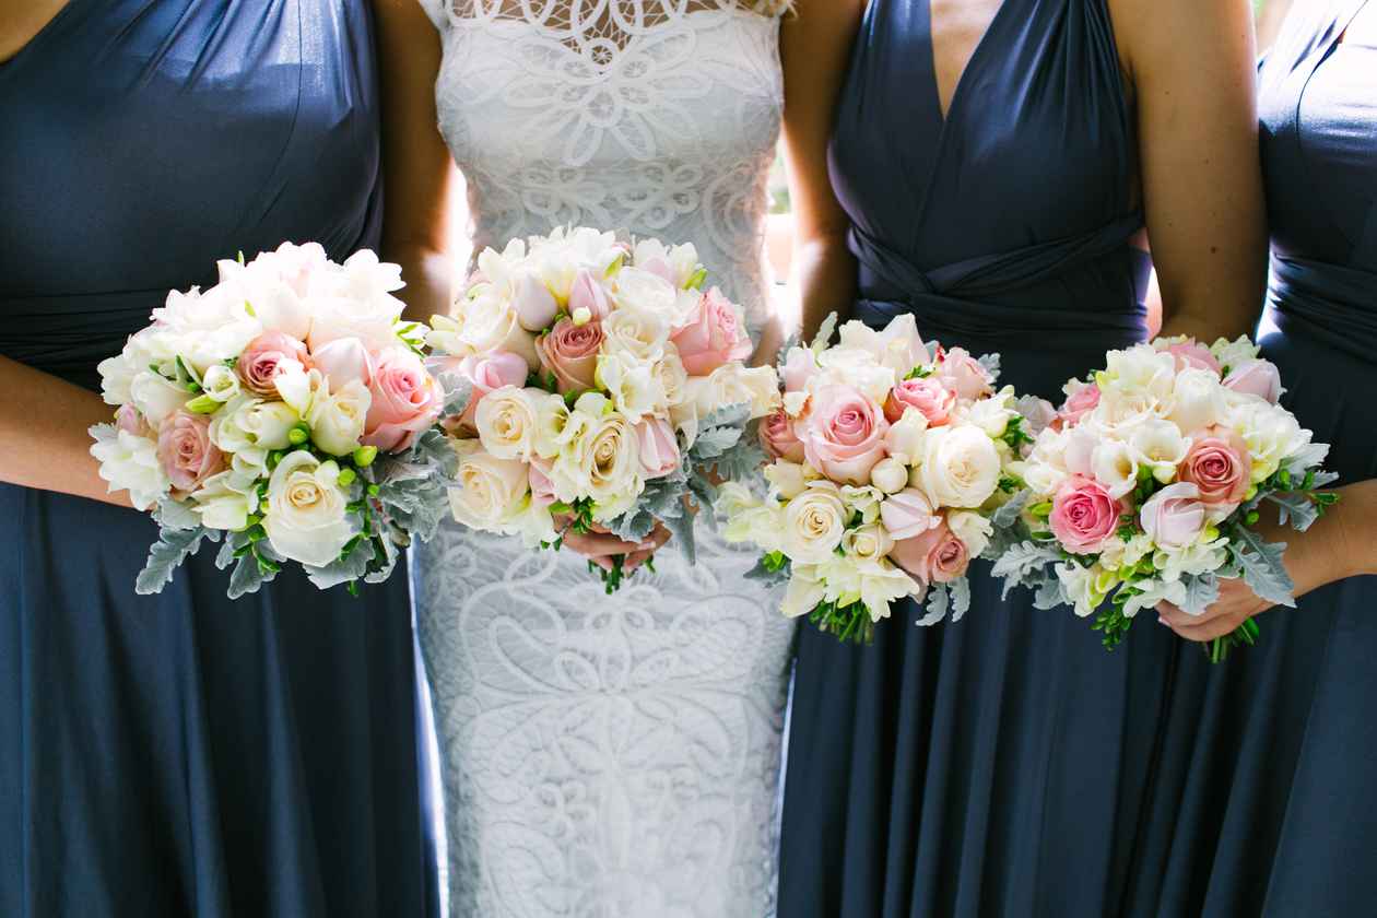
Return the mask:
<svg viewBox="0 0 1377 918"><path fill-rule="evenodd" d="M425 369L424 326L401 321L401 268L284 244L219 270L99 367L118 410L91 453L161 526L138 592L222 537L231 599L288 560L321 589L386 579L439 524L456 462L437 421L463 402Z"/></svg>

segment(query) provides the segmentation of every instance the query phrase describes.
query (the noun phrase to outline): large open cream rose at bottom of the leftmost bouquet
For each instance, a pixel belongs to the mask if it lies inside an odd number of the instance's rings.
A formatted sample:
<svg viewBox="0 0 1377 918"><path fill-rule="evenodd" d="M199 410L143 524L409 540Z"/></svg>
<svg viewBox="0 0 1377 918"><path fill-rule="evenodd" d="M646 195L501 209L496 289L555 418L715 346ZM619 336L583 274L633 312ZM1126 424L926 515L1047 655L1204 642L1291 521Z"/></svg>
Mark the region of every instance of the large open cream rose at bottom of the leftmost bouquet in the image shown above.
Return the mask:
<svg viewBox="0 0 1377 918"><path fill-rule="evenodd" d="M354 538L339 487L340 468L322 462L306 450L288 453L267 484L263 530L278 555L308 567L335 563Z"/></svg>

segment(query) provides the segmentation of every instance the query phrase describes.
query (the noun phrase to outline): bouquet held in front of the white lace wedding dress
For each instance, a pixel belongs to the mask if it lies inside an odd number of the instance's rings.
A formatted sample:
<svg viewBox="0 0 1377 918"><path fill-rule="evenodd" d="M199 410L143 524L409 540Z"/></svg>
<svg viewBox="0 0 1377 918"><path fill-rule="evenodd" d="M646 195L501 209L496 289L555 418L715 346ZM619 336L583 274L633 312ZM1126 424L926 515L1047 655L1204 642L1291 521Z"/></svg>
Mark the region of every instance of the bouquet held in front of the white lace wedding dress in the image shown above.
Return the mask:
<svg viewBox="0 0 1377 918"><path fill-rule="evenodd" d="M764 460L748 427L779 405L774 369L742 365L741 310L705 281L691 245L591 228L482 252L430 333L472 385L446 418L454 517L533 548L567 531L636 542L664 523L691 562L694 504ZM622 559L591 567L609 593L621 584Z"/></svg>

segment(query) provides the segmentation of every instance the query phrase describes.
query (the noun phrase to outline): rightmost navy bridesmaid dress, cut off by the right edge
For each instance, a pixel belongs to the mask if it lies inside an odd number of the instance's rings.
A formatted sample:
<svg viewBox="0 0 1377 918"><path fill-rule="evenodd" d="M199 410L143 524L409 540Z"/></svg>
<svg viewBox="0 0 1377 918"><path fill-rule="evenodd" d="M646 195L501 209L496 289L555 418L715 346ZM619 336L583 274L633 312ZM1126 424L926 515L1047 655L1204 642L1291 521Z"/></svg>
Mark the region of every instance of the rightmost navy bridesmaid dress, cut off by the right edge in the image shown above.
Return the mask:
<svg viewBox="0 0 1377 918"><path fill-rule="evenodd" d="M1377 478L1377 45L1371 0L1297 3L1260 73L1272 237L1263 339L1340 483ZM1377 914L1377 578L1183 658L1128 914Z"/></svg>

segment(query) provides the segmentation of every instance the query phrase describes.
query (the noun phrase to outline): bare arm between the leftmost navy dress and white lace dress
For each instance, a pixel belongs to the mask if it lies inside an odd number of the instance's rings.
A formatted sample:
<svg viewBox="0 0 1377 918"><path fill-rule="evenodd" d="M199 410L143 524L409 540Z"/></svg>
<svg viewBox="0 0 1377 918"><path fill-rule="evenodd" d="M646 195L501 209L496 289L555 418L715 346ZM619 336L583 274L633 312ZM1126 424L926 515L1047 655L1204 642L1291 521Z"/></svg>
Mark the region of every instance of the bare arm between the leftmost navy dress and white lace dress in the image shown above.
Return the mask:
<svg viewBox="0 0 1377 918"><path fill-rule="evenodd" d="M373 0L383 84L383 255L402 266L408 318L446 312L453 260L446 250L454 165L439 134L435 78L441 40L417 0Z"/></svg>

